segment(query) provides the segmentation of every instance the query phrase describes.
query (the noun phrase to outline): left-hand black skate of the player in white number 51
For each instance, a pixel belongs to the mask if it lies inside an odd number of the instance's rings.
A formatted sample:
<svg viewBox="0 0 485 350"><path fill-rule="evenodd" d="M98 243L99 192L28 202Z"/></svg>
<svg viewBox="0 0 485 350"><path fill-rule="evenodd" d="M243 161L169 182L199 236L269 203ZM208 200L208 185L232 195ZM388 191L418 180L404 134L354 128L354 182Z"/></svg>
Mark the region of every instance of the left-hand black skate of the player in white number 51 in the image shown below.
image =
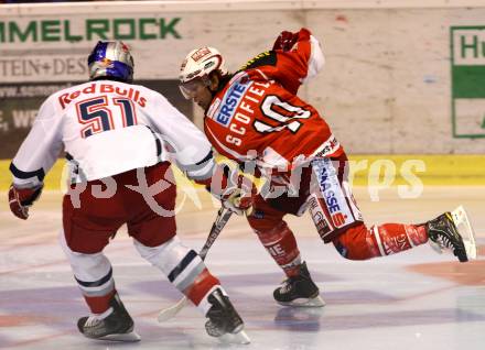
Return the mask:
<svg viewBox="0 0 485 350"><path fill-rule="evenodd" d="M121 303L118 293L109 302L112 313L105 318L82 317L77 328L87 338L111 341L139 341L140 336L133 330L133 320Z"/></svg>

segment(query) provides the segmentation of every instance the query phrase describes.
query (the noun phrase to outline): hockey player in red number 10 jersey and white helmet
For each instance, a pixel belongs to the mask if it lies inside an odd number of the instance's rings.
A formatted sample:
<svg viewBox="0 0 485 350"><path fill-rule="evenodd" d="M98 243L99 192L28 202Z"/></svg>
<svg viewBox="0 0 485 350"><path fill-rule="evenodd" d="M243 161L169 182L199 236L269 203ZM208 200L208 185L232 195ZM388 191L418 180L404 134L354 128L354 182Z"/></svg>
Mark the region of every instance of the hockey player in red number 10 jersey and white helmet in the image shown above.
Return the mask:
<svg viewBox="0 0 485 350"><path fill-rule="evenodd" d="M185 57L181 91L205 111L204 131L224 156L268 178L247 217L288 278L274 299L282 305L322 306L319 288L302 261L283 217L310 210L319 234L346 259L398 253L428 241L460 261L473 258L450 212L421 225L367 227L347 182L347 156L320 113L297 96L324 64L320 43L306 29L282 32L271 51L235 74L214 47Z"/></svg>

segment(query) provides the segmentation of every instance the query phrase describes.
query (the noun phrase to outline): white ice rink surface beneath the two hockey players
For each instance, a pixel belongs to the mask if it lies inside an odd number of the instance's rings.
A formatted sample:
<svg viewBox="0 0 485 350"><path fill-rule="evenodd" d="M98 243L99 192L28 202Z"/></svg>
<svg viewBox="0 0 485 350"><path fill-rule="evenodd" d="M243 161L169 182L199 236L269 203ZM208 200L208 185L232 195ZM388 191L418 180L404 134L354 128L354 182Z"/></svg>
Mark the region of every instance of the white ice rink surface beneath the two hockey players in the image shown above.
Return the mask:
<svg viewBox="0 0 485 350"><path fill-rule="evenodd" d="M10 215L6 194L0 195L1 349L485 349L484 187L427 187L412 200L389 192L379 203L356 190L368 223L421 222L463 204L482 245L478 261L466 264L438 255L429 245L367 262L346 261L321 242L309 217L289 219L326 302L320 309L273 302L282 273L245 220L231 218L207 264L245 319L249 346L225 346L206 336L205 318L192 306L158 324L158 311L181 295L138 255L123 231L106 253L142 340L84 338L76 320L87 307L56 241L58 194L44 194L26 222ZM187 245L202 245L215 215L209 206L182 211L179 232Z"/></svg>

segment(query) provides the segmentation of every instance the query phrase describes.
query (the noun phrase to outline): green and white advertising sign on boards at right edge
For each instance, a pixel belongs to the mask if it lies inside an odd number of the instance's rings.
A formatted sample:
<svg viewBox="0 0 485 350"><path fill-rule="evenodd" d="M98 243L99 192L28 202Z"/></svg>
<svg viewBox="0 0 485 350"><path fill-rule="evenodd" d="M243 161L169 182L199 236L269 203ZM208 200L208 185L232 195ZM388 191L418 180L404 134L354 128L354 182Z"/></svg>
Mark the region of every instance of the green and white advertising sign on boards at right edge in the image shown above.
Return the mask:
<svg viewBox="0 0 485 350"><path fill-rule="evenodd" d="M454 138L485 138L485 26L452 26Z"/></svg>

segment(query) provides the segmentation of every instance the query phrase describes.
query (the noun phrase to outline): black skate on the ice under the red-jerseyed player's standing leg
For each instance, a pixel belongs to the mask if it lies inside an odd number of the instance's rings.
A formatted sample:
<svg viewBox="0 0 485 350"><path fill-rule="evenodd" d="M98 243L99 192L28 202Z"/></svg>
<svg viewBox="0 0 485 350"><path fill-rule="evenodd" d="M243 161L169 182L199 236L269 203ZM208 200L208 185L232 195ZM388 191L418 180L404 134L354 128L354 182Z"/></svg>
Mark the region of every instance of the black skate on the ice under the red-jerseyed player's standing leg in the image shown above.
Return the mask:
<svg viewBox="0 0 485 350"><path fill-rule="evenodd" d="M280 287L274 289L273 297L278 304L283 306L322 307L325 305L305 262L300 265L300 273L297 276L287 278Z"/></svg>

